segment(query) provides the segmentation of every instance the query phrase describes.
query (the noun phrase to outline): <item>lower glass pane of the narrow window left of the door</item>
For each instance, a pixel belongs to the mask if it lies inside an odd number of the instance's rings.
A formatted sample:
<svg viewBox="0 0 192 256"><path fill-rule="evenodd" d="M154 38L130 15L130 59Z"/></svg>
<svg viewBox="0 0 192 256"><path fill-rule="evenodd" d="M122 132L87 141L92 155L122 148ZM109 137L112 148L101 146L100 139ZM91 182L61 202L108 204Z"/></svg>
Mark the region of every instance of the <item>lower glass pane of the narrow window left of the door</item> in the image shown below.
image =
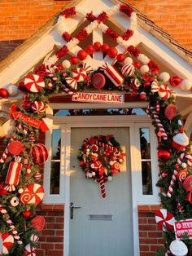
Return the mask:
<svg viewBox="0 0 192 256"><path fill-rule="evenodd" d="M50 165L50 194L59 194L60 162L51 162Z"/></svg>

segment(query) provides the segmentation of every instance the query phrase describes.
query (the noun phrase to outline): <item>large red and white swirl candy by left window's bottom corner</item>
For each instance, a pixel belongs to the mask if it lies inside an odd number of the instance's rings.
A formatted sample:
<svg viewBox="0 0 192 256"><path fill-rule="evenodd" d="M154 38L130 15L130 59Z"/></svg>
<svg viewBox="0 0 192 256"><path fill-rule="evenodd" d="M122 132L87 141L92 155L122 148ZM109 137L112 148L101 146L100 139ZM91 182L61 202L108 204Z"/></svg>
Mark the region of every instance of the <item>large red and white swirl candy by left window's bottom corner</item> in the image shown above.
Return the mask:
<svg viewBox="0 0 192 256"><path fill-rule="evenodd" d="M40 204L44 196L44 188L37 183L32 183L24 188L20 194L20 201L24 204Z"/></svg>

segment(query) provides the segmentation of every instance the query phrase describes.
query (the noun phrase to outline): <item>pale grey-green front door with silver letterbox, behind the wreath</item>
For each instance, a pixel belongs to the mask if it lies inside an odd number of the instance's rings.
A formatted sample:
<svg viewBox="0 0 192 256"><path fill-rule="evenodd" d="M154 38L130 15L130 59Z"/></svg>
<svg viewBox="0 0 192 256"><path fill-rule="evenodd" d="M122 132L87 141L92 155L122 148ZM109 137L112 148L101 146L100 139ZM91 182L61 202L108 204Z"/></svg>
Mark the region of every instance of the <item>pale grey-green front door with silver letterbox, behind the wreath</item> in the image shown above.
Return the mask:
<svg viewBox="0 0 192 256"><path fill-rule="evenodd" d="M77 152L85 138L111 134L127 156L103 199L99 184L85 179ZM69 256L133 256L129 128L72 128L71 148L70 201L81 208L70 219Z"/></svg>

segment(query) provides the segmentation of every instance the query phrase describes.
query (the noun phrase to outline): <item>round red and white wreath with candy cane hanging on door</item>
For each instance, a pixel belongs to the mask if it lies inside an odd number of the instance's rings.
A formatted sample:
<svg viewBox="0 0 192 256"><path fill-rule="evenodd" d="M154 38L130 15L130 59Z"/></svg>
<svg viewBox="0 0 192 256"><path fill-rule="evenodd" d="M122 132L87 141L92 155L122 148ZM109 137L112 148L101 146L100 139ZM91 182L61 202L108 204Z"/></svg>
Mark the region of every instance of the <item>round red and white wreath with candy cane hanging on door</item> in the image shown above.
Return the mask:
<svg viewBox="0 0 192 256"><path fill-rule="evenodd" d="M101 194L106 197L105 182L120 173L124 152L113 135L98 135L86 138L78 152L81 169L87 179L100 183Z"/></svg>

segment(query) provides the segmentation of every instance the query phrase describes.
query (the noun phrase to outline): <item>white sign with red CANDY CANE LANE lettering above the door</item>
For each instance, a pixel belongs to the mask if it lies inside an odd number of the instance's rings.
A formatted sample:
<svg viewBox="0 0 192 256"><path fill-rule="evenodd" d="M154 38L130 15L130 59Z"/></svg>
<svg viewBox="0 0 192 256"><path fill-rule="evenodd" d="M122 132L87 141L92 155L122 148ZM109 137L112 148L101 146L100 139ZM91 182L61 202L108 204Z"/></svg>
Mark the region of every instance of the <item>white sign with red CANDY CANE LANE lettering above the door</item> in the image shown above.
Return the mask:
<svg viewBox="0 0 192 256"><path fill-rule="evenodd" d="M107 93L90 93L77 92L72 95L72 101L106 103L106 104L123 104L124 95L122 94L107 94Z"/></svg>

